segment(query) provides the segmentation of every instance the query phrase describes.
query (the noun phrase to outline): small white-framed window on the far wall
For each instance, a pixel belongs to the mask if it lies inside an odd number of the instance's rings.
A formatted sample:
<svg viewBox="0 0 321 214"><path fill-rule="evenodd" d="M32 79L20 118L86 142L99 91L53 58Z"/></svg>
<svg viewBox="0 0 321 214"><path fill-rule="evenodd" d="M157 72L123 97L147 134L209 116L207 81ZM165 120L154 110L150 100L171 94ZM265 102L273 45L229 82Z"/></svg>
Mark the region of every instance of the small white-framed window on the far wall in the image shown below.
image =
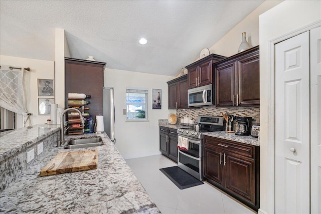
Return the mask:
<svg viewBox="0 0 321 214"><path fill-rule="evenodd" d="M126 88L127 121L147 120L148 89Z"/></svg>

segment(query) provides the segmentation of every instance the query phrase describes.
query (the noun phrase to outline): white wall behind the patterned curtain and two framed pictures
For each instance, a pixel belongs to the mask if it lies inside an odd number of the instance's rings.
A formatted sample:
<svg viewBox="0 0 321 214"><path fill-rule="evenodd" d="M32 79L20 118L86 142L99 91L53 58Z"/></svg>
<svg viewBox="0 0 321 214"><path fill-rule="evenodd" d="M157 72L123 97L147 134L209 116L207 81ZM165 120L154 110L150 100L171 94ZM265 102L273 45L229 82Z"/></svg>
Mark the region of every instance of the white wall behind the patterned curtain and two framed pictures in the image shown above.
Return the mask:
<svg viewBox="0 0 321 214"><path fill-rule="evenodd" d="M20 57L0 56L0 62L3 65L12 65L14 67L29 67L30 72L24 73L25 95L27 99L28 113L32 113L31 122L33 125L46 123L50 115L38 115L38 89L37 79L54 79L54 62L46 60L35 60ZM28 123L26 124L29 125ZM19 126L17 124L17 127Z"/></svg>

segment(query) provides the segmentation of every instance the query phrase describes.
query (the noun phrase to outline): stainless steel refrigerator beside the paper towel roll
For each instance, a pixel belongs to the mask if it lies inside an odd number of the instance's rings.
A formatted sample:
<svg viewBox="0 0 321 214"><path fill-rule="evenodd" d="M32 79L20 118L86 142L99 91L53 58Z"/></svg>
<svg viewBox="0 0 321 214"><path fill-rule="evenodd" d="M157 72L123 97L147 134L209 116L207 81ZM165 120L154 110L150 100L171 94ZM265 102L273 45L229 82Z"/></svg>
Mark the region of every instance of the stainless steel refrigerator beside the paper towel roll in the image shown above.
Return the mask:
<svg viewBox="0 0 321 214"><path fill-rule="evenodd" d="M115 104L114 104L114 88L103 88L103 116L104 130L114 144L115 139Z"/></svg>

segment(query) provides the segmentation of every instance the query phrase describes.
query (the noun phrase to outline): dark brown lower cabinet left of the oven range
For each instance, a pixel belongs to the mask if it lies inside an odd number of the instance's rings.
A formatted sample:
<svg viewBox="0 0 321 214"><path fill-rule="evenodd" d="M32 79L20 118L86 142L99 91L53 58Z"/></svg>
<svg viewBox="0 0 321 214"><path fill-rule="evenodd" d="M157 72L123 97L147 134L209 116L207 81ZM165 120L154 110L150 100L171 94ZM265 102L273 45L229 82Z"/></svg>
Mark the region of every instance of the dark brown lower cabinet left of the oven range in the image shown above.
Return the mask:
<svg viewBox="0 0 321 214"><path fill-rule="evenodd" d="M177 130L159 126L159 151L177 163Z"/></svg>

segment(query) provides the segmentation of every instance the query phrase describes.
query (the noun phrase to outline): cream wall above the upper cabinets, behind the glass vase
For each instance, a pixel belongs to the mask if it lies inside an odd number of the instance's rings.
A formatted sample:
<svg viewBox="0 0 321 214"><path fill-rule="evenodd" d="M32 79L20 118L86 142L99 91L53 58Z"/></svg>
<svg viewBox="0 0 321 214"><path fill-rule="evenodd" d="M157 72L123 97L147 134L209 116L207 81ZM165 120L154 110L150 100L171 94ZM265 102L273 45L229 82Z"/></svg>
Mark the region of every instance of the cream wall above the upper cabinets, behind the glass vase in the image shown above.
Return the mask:
<svg viewBox="0 0 321 214"><path fill-rule="evenodd" d="M259 15L280 4L282 1L265 1L244 20L239 22L222 39L216 42L210 53L230 57L237 54L242 42L242 33L246 32L247 42L252 46L259 45Z"/></svg>

